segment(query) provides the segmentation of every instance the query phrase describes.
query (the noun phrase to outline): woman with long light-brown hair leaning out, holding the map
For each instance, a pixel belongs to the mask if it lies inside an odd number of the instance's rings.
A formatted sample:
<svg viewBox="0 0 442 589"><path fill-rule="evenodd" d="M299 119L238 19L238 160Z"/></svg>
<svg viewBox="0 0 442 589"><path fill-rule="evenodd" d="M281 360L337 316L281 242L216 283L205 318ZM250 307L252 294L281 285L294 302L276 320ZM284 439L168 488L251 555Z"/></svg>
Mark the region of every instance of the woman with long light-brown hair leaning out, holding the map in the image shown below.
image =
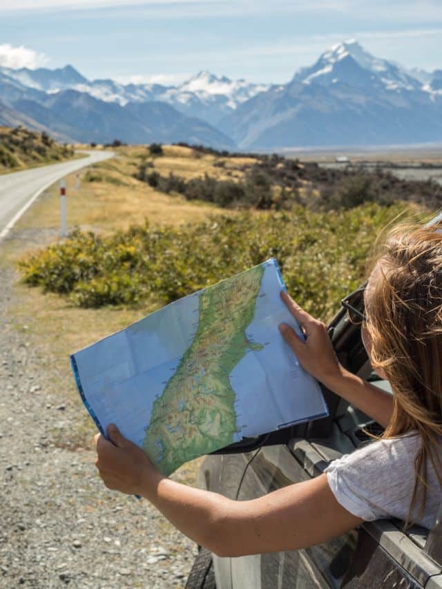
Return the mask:
<svg viewBox="0 0 442 589"><path fill-rule="evenodd" d="M106 486L151 501L196 543L224 557L323 543L365 520L395 516L430 527L441 503L442 235L401 227L387 240L364 291L367 355L394 396L341 367L323 323L281 293L302 342L282 336L305 370L385 427L383 436L332 462L324 474L252 501L232 501L167 479L110 426L95 436ZM357 310L356 310L357 312Z"/></svg>

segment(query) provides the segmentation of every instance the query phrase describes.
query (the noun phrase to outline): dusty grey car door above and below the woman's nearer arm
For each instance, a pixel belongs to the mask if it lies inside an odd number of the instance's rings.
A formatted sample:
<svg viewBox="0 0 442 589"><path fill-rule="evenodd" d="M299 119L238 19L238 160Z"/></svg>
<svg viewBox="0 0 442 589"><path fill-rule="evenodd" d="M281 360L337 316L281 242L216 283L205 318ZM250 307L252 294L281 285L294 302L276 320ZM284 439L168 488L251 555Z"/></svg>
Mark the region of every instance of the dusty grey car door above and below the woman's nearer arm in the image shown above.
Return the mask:
<svg viewBox="0 0 442 589"><path fill-rule="evenodd" d="M376 431L376 423L342 403L328 436L293 438L287 445L262 447L247 465L238 499L253 499L318 476L330 461L366 441L363 429L367 428ZM435 557L442 552L441 521L442 508L433 552L428 548L428 530L414 527L404 534L401 522L380 520L305 550L231 559L232 588L417 589L427 583L436 588L442 580Z"/></svg>

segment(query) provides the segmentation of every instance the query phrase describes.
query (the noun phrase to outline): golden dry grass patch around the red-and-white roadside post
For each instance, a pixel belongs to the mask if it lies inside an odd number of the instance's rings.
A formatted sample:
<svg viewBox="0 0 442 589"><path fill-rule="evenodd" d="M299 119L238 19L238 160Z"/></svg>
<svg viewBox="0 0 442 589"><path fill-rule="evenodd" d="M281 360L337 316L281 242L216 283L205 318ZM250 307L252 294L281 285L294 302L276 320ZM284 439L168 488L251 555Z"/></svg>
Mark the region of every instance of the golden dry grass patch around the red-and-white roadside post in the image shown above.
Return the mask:
<svg viewBox="0 0 442 589"><path fill-rule="evenodd" d="M118 148L116 151L115 159L95 164L79 173L78 190L75 174L66 178L68 229L80 227L108 233L128 229L145 219L152 224L178 226L200 222L222 211L208 203L189 203L184 197L165 195L135 180L132 174L137 169L138 160L135 160L134 153L140 153L140 147ZM186 161L193 162L190 158ZM96 180L88 182L90 176ZM55 184L37 200L32 211L21 218L17 228L57 230L59 224L59 186Z"/></svg>

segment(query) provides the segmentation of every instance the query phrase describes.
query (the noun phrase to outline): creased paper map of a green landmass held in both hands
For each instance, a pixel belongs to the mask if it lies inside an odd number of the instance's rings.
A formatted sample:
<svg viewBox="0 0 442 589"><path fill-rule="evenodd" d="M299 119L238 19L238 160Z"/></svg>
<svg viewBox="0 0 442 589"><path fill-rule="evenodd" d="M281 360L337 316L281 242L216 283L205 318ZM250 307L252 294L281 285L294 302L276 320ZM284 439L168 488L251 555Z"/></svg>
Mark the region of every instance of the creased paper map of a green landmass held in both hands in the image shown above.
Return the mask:
<svg viewBox="0 0 442 589"><path fill-rule="evenodd" d="M244 437L326 416L318 383L278 330L285 322L302 337L281 289L270 259L73 354L99 430L115 423L170 474Z"/></svg>

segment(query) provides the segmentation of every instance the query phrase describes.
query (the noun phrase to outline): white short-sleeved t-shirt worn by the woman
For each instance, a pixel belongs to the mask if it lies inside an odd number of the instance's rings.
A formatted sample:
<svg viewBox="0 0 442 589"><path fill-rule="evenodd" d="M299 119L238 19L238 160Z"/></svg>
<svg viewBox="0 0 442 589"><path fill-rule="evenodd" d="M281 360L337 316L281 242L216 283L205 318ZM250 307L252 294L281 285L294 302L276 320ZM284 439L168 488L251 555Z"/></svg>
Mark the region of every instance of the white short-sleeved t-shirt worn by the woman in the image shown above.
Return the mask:
<svg viewBox="0 0 442 589"><path fill-rule="evenodd" d="M350 513L373 521L395 517L405 521L414 487L414 457L421 447L415 432L368 443L330 463L325 472L336 501ZM427 462L427 501L415 523L431 528L442 501L442 491ZM419 499L414 513L419 512Z"/></svg>

